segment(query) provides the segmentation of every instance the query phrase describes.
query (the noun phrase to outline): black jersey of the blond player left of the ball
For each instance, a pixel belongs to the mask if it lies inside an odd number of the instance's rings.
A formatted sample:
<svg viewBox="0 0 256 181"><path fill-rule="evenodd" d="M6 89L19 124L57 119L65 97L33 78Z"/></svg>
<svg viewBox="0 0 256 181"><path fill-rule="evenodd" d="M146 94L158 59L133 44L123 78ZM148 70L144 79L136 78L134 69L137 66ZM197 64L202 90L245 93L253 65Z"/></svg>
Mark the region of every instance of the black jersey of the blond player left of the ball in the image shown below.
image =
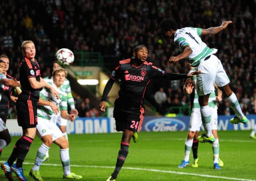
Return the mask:
<svg viewBox="0 0 256 181"><path fill-rule="evenodd" d="M20 85L22 92L19 95L19 99L23 100L39 100L40 89L33 89L28 81L28 78L34 77L40 82L40 66L37 60L34 61L25 58L20 64Z"/></svg>

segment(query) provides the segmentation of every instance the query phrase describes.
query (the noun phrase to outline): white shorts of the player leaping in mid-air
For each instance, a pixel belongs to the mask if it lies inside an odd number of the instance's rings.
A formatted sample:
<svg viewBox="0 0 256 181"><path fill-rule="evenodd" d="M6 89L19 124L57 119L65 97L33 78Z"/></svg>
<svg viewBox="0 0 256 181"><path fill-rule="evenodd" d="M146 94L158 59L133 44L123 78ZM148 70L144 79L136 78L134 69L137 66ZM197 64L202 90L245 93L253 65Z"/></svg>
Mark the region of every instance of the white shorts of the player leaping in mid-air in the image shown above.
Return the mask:
<svg viewBox="0 0 256 181"><path fill-rule="evenodd" d="M215 55L202 60L197 70L201 73L196 76L196 92L198 95L207 95L214 92L214 82L218 87L227 85L230 81L221 61Z"/></svg>

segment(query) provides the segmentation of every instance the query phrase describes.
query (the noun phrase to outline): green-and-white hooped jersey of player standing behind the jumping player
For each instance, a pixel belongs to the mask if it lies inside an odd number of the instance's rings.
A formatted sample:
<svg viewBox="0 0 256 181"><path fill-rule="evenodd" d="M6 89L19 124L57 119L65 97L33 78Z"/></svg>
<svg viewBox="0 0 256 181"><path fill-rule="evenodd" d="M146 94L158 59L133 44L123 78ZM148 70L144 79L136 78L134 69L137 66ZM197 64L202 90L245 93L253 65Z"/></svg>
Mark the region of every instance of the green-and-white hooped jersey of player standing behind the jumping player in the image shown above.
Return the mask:
<svg viewBox="0 0 256 181"><path fill-rule="evenodd" d="M196 71L196 69L192 69L192 70L189 71L188 74L191 74L192 72L195 72L195 71ZM193 85L195 87L195 89L194 89L195 90L195 97L194 97L194 100L193 100L193 107L192 108L193 109L196 109L196 108L200 109L200 105L199 105L199 102L198 102L198 95L196 93L196 75L193 76L192 82L193 82ZM217 108L215 92L210 93L209 100L208 100L208 105L209 105L209 107L213 107L213 108L216 107Z"/></svg>

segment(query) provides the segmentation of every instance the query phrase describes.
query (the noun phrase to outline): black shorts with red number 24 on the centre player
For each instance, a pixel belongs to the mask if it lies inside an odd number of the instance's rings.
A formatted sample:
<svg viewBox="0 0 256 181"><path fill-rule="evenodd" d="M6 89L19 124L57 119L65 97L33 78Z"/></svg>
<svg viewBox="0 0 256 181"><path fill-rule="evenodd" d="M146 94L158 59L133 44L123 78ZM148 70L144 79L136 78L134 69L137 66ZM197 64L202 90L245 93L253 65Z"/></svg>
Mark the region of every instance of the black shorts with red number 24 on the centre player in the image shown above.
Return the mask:
<svg viewBox="0 0 256 181"><path fill-rule="evenodd" d="M145 109L142 106L138 108L125 106L118 99L115 101L113 117L116 120L116 130L139 132L143 123Z"/></svg>

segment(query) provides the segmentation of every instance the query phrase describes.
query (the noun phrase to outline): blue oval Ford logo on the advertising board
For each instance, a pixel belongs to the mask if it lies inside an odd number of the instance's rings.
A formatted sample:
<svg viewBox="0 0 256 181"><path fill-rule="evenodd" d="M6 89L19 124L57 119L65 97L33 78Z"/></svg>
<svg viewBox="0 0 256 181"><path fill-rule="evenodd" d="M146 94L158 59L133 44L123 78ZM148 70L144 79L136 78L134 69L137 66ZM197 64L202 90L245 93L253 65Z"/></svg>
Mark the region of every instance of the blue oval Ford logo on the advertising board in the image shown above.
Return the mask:
<svg viewBox="0 0 256 181"><path fill-rule="evenodd" d="M173 118L158 118L145 125L146 131L184 131L185 123Z"/></svg>

